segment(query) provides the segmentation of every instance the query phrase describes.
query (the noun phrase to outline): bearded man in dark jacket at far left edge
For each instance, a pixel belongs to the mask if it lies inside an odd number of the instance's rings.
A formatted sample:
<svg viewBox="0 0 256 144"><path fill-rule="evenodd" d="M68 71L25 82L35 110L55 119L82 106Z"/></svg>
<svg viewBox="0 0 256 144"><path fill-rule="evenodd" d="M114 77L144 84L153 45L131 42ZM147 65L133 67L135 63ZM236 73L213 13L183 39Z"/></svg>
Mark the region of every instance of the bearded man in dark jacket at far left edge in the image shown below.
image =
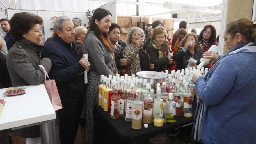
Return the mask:
<svg viewBox="0 0 256 144"><path fill-rule="evenodd" d="M14 39L13 35L11 34L11 27L9 19L0 19L1 27L3 31L6 32L6 36L3 38L6 42L7 50L15 44L16 40Z"/></svg>

